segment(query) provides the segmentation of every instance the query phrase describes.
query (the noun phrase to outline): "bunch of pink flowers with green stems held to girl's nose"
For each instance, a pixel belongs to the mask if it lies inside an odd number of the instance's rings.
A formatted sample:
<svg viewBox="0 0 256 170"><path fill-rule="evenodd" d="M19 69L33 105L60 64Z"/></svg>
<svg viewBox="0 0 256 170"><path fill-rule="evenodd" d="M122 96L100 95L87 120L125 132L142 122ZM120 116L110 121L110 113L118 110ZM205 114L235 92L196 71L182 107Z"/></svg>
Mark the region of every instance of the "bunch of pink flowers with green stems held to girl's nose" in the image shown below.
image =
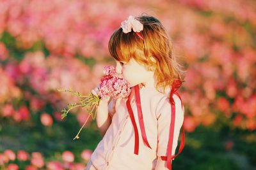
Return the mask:
<svg viewBox="0 0 256 170"><path fill-rule="evenodd" d="M83 126L74 139L79 139L79 133L83 129L90 116L92 116L93 120L95 120L96 110L100 99L104 99L106 97L112 97L113 99L118 99L120 97L126 98L131 93L129 83L124 80L122 74L116 73L114 66L105 66L103 73L104 76L102 76L100 79L99 87L97 90L95 90L96 94L91 93L88 96L83 96L79 92L74 92L71 88L68 90L58 89L59 92L70 92L72 95L79 97L78 103L67 104L67 110L66 108L61 110L61 118L67 117L67 114L70 110L79 106L85 108L89 113L88 117L84 121Z"/></svg>

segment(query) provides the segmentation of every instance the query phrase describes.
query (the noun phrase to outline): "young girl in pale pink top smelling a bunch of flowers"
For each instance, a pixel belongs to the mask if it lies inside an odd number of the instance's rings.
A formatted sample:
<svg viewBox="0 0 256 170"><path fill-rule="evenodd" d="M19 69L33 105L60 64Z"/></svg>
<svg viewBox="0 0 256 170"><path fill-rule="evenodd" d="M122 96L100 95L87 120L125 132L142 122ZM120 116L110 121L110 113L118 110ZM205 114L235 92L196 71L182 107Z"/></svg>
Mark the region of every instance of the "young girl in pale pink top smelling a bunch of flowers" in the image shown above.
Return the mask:
<svg viewBox="0 0 256 170"><path fill-rule="evenodd" d="M111 36L109 52L131 94L109 104L109 99L100 101L96 122L104 137L86 170L172 169L184 120L176 92L183 71L163 25L155 17L129 16ZM179 153L183 147L184 129Z"/></svg>

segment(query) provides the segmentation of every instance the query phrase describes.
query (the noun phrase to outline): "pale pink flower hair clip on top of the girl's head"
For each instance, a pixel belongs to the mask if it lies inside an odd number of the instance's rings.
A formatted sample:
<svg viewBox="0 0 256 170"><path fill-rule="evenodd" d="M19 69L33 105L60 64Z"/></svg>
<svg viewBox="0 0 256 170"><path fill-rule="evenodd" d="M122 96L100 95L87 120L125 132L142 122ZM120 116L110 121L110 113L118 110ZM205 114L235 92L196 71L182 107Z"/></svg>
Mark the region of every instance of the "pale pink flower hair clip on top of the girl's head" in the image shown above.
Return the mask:
<svg viewBox="0 0 256 170"><path fill-rule="evenodd" d="M143 36L140 33L143 30L143 24L139 20L136 20L134 16L130 15L127 20L124 20L121 23L121 27L125 34L134 31L143 40Z"/></svg>

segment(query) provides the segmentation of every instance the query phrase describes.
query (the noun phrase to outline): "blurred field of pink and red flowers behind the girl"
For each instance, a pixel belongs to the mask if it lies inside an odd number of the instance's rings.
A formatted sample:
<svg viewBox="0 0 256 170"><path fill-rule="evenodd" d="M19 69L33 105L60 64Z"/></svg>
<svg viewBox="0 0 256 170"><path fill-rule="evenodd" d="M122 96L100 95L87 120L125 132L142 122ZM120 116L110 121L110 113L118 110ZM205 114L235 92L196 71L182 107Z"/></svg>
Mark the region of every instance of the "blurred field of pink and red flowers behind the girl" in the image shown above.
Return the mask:
<svg viewBox="0 0 256 170"><path fill-rule="evenodd" d="M187 73L173 169L256 169L256 1L0 0L0 169L83 169L102 138L81 108L129 15L161 20Z"/></svg>

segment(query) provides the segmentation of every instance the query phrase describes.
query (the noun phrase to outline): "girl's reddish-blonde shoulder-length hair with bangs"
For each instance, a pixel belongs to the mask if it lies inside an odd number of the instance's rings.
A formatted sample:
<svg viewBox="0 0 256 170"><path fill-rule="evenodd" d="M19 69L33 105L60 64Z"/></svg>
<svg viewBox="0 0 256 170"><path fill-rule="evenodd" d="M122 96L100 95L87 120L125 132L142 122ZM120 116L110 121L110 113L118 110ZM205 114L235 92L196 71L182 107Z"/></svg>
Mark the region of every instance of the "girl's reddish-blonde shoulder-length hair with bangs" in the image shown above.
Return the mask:
<svg viewBox="0 0 256 170"><path fill-rule="evenodd" d="M135 18L143 24L143 31L140 32L143 40L133 31L125 34L120 27L109 39L111 56L124 62L133 58L148 70L154 70L159 92L159 87L166 89L175 79L183 83L185 71L177 62L177 56L173 55L172 41L161 22L155 17L143 14Z"/></svg>

